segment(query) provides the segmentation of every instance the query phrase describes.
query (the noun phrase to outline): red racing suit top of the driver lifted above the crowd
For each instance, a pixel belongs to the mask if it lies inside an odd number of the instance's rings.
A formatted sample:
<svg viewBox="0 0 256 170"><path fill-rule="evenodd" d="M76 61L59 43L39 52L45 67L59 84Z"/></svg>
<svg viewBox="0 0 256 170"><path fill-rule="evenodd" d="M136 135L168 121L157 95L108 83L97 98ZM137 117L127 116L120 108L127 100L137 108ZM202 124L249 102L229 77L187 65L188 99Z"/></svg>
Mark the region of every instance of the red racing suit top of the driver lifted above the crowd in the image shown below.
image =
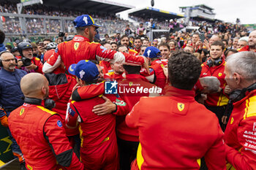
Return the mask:
<svg viewBox="0 0 256 170"><path fill-rule="evenodd" d="M43 72L53 72L61 61L64 62L66 69L68 69L72 63L78 63L81 60L125 61L140 65L144 63L144 59L141 57L116 52L115 50L107 50L99 43L89 42L86 37L76 35L71 41L62 42L58 45L53 56L44 64Z"/></svg>

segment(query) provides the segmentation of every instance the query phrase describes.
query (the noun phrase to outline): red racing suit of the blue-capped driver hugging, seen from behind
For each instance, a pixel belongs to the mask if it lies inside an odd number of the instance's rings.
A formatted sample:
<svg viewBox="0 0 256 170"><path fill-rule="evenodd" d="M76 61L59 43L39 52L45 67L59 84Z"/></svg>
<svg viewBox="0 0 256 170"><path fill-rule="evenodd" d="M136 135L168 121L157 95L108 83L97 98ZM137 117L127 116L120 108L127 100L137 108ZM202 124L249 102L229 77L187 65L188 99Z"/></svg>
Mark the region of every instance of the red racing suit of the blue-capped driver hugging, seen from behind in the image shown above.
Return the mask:
<svg viewBox="0 0 256 170"><path fill-rule="evenodd" d="M114 95L105 96L117 105L117 110L113 114L96 115L91 111L97 104L105 103L99 96L83 101L72 101L68 107L68 126L75 127L78 115L80 117L80 158L86 169L118 169L116 115L126 115L129 109L121 98Z"/></svg>

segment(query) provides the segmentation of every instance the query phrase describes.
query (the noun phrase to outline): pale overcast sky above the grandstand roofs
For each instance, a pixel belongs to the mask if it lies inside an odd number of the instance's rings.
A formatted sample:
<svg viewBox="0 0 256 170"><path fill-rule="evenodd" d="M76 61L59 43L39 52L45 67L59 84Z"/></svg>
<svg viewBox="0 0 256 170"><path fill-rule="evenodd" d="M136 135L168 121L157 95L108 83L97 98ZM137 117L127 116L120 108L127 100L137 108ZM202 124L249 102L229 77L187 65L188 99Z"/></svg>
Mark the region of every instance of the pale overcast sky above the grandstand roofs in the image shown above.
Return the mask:
<svg viewBox="0 0 256 170"><path fill-rule="evenodd" d="M151 7L151 0L109 0L121 4L140 7ZM215 18L235 23L236 18L241 23L256 23L256 0L154 0L154 8L169 12L181 13L178 7L187 7L197 4L206 4L214 9Z"/></svg>

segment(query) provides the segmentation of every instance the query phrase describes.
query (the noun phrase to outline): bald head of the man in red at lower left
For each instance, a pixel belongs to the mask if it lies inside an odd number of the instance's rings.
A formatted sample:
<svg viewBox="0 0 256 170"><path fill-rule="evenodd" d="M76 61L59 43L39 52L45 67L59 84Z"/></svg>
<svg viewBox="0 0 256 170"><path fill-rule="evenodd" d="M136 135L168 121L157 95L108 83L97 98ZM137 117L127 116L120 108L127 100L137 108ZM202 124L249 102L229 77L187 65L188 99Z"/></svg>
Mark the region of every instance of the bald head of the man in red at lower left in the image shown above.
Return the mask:
<svg viewBox="0 0 256 170"><path fill-rule="evenodd" d="M48 96L48 80L39 73L26 74L20 81L20 88L25 97L45 99Z"/></svg>

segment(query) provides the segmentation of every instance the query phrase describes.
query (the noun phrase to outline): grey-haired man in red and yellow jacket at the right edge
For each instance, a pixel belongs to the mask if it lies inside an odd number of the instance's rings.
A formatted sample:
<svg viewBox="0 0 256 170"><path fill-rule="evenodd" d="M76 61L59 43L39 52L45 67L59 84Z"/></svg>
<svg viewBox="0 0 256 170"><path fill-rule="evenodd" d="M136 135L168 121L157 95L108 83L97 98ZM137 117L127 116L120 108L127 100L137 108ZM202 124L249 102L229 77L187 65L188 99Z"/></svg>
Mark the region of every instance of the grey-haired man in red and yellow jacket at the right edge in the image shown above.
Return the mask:
<svg viewBox="0 0 256 170"><path fill-rule="evenodd" d="M225 64L227 85L233 90L233 111L225 130L227 169L256 169L255 95L256 53L230 55ZM243 90L241 90L243 89Z"/></svg>

